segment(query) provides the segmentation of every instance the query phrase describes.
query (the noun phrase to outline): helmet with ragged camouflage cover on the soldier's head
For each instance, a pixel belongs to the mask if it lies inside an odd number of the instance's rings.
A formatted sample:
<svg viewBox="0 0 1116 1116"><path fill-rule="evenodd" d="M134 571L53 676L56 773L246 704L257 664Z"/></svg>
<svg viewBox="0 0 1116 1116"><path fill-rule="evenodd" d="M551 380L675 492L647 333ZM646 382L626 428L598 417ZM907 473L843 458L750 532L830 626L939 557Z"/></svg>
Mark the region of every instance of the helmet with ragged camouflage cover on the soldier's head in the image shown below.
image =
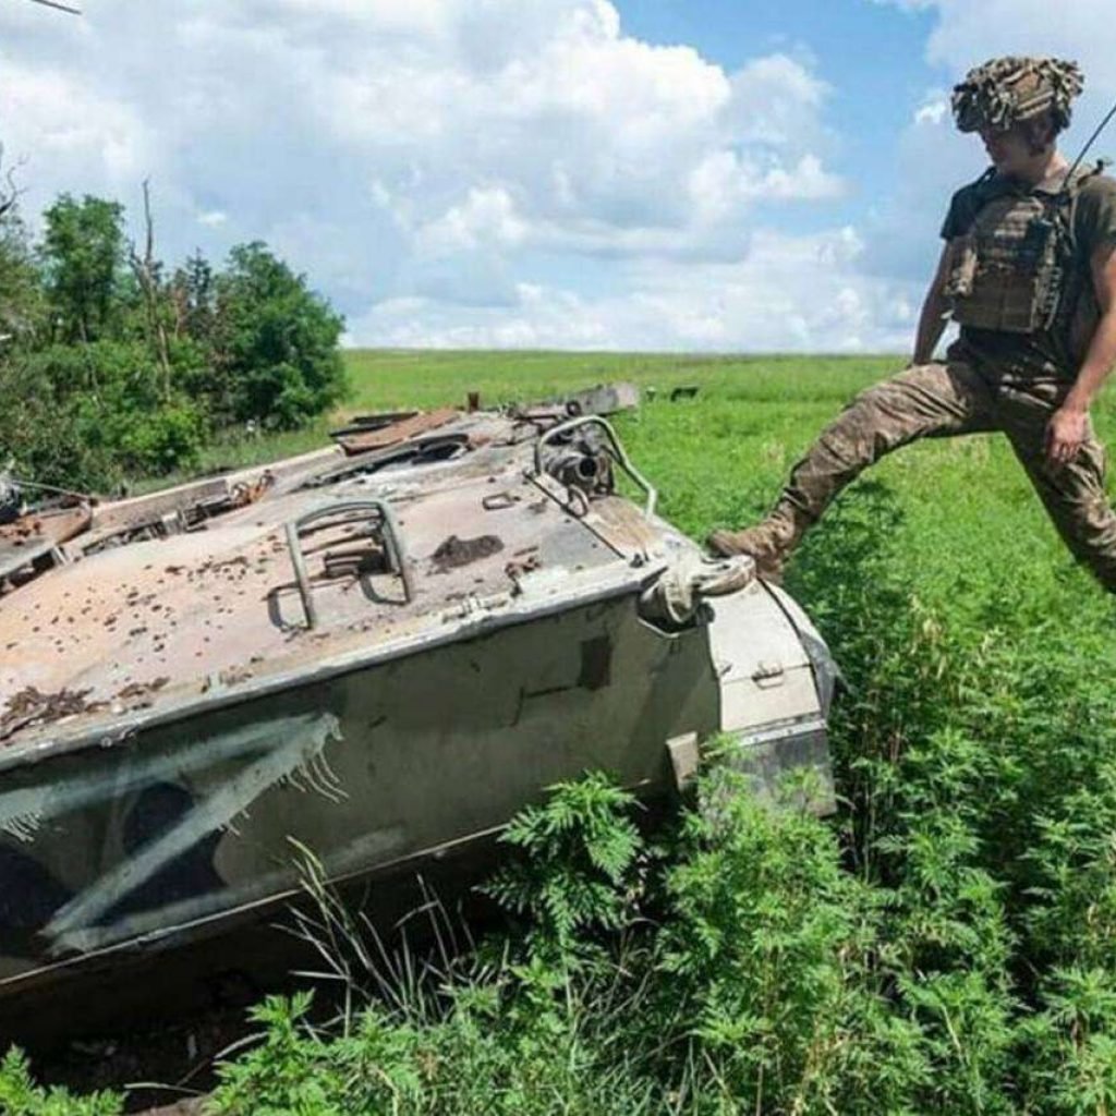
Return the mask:
<svg viewBox="0 0 1116 1116"><path fill-rule="evenodd" d="M992 58L953 87L953 117L962 132L1006 132L1049 110L1060 132L1084 81L1077 62L1060 58Z"/></svg>

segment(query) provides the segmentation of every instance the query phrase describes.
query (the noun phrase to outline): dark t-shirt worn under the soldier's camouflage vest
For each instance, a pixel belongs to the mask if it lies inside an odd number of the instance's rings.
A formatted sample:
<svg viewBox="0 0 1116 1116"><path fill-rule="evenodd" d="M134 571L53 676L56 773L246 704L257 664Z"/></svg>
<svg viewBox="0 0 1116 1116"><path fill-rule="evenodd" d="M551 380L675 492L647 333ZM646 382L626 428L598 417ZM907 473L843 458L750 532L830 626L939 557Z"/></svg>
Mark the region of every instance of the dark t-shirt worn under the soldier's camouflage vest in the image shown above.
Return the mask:
<svg viewBox="0 0 1116 1116"><path fill-rule="evenodd" d="M1089 260L1098 248L1116 247L1116 179L1088 171L1078 174L1087 176L1078 190L1074 206L1074 241L1078 266L1087 271ZM1062 176L1064 172L1059 172L1037 186L1027 186L1017 179L994 174L962 186L950 202L950 210L942 225L943 239L963 237L972 227L977 214L993 198L1011 191L1056 194L1061 189ZM1093 281L1088 273L1084 277L1084 290L1083 297L1091 300ZM1083 317L1079 318L1074 336L1070 336L1068 329L1062 334L1010 334L962 326L961 338L951 347L950 356L978 365L990 364L998 372L1009 375L1074 379L1087 345L1087 337L1078 336L1083 321L1086 334L1089 333L1089 308L1081 309Z"/></svg>

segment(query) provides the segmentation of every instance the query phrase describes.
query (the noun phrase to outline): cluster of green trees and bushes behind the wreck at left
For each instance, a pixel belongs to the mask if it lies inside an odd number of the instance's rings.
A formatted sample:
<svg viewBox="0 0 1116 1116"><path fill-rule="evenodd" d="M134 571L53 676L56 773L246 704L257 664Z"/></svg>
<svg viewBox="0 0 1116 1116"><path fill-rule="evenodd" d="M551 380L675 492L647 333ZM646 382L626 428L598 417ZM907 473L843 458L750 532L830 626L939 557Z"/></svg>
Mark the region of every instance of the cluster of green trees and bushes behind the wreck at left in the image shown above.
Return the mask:
<svg viewBox="0 0 1116 1116"><path fill-rule="evenodd" d="M344 319L305 276L259 241L170 268L143 198L136 243L119 202L64 193L33 237L0 190L0 472L104 491L344 396Z"/></svg>

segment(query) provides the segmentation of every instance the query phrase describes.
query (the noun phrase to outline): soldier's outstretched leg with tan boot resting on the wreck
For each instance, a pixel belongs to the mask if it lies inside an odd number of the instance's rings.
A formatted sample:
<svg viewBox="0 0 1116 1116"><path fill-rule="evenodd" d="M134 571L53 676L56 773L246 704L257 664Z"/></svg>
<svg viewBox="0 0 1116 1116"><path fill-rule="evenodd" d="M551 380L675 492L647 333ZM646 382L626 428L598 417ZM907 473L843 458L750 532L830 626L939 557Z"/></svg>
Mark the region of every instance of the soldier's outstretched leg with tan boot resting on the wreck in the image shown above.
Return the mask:
<svg viewBox="0 0 1116 1116"><path fill-rule="evenodd" d="M834 497L884 454L921 437L993 430L992 396L968 365L924 364L862 392L791 470L766 520L743 531L714 531L716 554L750 554L760 574L782 562Z"/></svg>

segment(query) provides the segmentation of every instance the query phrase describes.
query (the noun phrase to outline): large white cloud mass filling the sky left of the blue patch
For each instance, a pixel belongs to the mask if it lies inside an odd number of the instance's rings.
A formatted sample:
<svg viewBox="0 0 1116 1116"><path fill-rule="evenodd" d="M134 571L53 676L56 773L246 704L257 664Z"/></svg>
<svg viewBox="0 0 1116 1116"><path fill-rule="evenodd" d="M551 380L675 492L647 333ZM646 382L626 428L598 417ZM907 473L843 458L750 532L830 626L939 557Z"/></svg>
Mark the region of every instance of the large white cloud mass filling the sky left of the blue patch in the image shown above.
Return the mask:
<svg viewBox="0 0 1116 1116"><path fill-rule="evenodd" d="M29 206L135 210L151 176L164 254L267 240L355 340L817 347L853 336L822 304L876 305L850 259L815 290L844 233L762 231L845 186L808 61L728 71L606 0L100 0L61 30L26 7L0 8L0 140Z"/></svg>

